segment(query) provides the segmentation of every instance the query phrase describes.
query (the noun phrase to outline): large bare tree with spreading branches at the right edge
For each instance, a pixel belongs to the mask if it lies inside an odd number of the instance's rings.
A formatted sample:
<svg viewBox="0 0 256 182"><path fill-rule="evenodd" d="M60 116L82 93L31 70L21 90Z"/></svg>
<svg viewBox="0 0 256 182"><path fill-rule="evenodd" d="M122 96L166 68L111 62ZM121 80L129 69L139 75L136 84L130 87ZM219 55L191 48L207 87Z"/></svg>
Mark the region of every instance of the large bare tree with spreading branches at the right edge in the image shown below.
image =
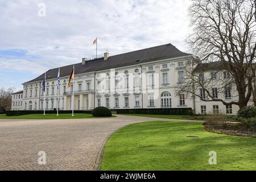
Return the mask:
<svg viewBox="0 0 256 182"><path fill-rule="evenodd" d="M187 84L180 84L179 89L201 100L246 106L255 81L255 0L195 0L189 14L193 33L187 42L198 59L190 61ZM195 63L199 65L196 67ZM218 82L212 77L202 79L200 73L205 70L200 67L207 68L207 63L213 64L214 72L227 71L230 77L218 74ZM216 98L213 86L218 86L218 92L223 93L234 86L238 101ZM207 93L207 98L198 92L199 88Z"/></svg>

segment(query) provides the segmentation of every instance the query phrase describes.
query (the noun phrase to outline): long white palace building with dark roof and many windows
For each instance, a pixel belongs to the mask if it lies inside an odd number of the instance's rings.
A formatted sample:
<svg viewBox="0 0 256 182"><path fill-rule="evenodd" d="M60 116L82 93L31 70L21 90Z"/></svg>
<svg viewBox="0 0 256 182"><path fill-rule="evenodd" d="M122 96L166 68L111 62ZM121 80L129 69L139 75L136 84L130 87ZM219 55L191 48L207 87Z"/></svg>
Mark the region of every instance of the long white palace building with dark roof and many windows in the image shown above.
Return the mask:
<svg viewBox="0 0 256 182"><path fill-rule="evenodd" d="M179 51L172 44L115 56L106 52L97 59L82 58L81 63L75 64L75 80L70 88L68 81L73 65L60 67L59 109L72 109L74 89L74 110L90 110L97 106L110 109L191 107L196 114L236 114L236 105L226 107L221 102L205 102L186 93L177 94L177 85L184 81L185 63L191 59L191 54ZM57 108L58 71L59 68L53 68L46 72L45 93L44 74L24 82L23 93L13 94L12 110ZM205 76L208 75L210 71L205 72ZM228 95L219 94L218 97L237 100L232 97L234 92L236 90L230 90Z"/></svg>

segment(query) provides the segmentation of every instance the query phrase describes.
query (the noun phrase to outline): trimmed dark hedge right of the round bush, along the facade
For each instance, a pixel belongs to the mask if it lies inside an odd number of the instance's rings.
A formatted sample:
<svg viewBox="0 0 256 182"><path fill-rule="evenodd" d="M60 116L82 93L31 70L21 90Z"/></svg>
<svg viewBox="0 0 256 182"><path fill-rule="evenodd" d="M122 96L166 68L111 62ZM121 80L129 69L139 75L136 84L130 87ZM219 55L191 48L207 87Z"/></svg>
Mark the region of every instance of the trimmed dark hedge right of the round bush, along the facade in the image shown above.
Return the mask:
<svg viewBox="0 0 256 182"><path fill-rule="evenodd" d="M192 115L192 108L116 109L117 114Z"/></svg>

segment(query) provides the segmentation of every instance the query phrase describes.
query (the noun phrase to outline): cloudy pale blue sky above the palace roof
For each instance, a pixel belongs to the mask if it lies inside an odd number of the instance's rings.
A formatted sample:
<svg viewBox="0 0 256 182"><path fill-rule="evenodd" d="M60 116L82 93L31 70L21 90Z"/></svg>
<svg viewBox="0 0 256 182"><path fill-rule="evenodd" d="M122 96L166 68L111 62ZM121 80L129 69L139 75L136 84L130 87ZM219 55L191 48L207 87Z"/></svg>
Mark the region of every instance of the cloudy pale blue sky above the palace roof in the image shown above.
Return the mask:
<svg viewBox="0 0 256 182"><path fill-rule="evenodd" d="M186 52L190 3L0 0L0 88L22 89L47 69L94 56L96 37L98 53L110 56L166 43Z"/></svg>

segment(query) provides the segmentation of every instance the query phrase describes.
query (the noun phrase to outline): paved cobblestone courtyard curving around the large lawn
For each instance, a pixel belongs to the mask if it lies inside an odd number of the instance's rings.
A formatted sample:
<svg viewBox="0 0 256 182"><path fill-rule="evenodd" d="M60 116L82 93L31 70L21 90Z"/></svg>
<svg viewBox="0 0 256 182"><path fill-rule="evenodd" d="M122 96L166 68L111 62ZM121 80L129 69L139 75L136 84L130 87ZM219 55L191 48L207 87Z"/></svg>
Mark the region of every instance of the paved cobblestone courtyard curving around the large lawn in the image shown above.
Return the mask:
<svg viewBox="0 0 256 182"><path fill-rule="evenodd" d="M0 119L0 170L95 170L106 138L130 123L170 119ZM39 165L39 151L46 164Z"/></svg>

